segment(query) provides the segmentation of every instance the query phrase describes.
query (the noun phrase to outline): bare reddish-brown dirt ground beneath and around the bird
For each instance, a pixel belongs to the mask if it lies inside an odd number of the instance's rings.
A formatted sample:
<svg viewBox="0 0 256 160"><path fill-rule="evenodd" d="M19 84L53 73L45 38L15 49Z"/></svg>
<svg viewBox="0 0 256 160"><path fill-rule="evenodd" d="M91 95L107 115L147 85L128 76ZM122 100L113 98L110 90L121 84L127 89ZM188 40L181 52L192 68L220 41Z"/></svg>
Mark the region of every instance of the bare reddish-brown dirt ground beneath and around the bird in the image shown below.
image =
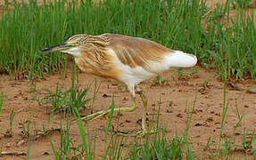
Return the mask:
<svg viewBox="0 0 256 160"><path fill-rule="evenodd" d="M148 99L147 117L152 119L153 108L161 103L160 108L160 126L166 128L169 140L175 135L182 136L186 130L186 108L193 106L196 97L193 119L189 131L189 138L192 142L195 153L200 153L197 159L205 158L209 152L204 150L207 140L211 138L212 142L219 140L219 130L221 122L221 112L223 107L223 83L216 76L209 73L204 68L196 68L198 73L190 76L188 79L178 76L178 72L165 72L161 76L167 83L153 85L153 78L140 84L140 88L145 92ZM187 71L186 71L187 72ZM189 73L189 72L187 72ZM43 124L48 128L60 126L60 115L56 114L53 120L48 124L50 108L39 107L37 102L31 98L31 95L45 97L44 89L55 90L57 84L65 84L69 88L71 83L71 73L67 77L56 74L46 77L45 80L37 82L37 91L29 91L29 82L27 80L10 81L9 76L1 75L0 91L4 92L4 108L0 115L1 145L4 151L23 151L28 148L28 139L21 136L22 124L31 121L37 130L42 130ZM206 82L207 86L205 86ZM94 77L80 74L80 88L85 89L94 82ZM89 114L98 110L109 108L111 105L111 94L115 94L116 107L127 107L130 104L129 92L125 89L120 90L116 82L98 78L98 84L101 84L94 108L92 103L85 106L83 114ZM238 87L235 88L234 86ZM244 82L240 84L228 85L227 100L229 108L227 110L227 120L224 130L225 136L233 135L233 129L238 121L235 114L235 106L244 114L244 120L241 126L235 131L234 139L239 139L244 132L252 132L256 124L256 99L255 94L246 92L248 87L255 86L253 82ZM91 97L94 87L91 87L88 97ZM110 95L110 96L105 96ZM138 108L132 113L123 113L120 116L119 129L125 132L135 132L140 129L137 123L141 119L142 102L137 99ZM14 110L14 120L12 127L12 137L6 137L6 131L9 128L9 117ZM114 116L113 124L117 127L117 118ZM96 154L103 151L104 129L107 121L102 117L87 126L86 131L96 131ZM71 137L79 142L79 133L77 124L72 124ZM60 143L60 132L50 134L50 139L54 144ZM131 139L133 140L133 139ZM255 143L253 144L255 146ZM7 159L23 159L25 156L4 156ZM30 159L54 159L53 151L49 140L38 137L32 140Z"/></svg>

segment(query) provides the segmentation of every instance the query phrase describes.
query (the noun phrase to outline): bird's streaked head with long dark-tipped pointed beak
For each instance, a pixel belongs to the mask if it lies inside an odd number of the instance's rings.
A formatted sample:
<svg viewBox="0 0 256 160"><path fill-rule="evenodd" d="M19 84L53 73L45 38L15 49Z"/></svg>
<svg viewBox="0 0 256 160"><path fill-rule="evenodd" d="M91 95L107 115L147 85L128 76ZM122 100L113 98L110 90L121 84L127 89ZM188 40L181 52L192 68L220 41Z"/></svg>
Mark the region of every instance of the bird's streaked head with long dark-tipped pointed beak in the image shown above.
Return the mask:
<svg viewBox="0 0 256 160"><path fill-rule="evenodd" d="M72 56L79 57L82 46L87 43L87 38L88 35L86 34L71 36L64 43L45 48L41 50L41 52L65 52Z"/></svg>

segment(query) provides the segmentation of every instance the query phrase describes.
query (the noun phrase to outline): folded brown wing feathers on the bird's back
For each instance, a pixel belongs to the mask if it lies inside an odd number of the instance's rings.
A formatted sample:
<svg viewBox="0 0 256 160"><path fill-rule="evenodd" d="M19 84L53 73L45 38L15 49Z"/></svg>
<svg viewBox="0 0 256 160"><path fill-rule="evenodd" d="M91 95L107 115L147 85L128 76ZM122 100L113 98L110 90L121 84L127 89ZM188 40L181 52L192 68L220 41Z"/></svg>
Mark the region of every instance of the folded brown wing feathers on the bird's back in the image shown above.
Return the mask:
<svg viewBox="0 0 256 160"><path fill-rule="evenodd" d="M173 52L169 48L153 41L119 34L103 34L109 38L109 47L118 59L130 68L137 66L149 69L152 62L161 62L166 54Z"/></svg>

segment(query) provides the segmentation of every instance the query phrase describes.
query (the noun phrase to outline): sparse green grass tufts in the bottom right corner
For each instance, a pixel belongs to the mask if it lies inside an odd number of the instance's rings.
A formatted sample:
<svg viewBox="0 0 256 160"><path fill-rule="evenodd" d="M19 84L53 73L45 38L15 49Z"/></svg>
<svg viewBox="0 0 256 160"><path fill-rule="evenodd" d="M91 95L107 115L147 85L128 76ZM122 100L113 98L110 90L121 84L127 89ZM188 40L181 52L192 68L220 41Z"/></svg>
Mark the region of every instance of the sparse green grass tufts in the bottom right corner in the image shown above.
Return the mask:
<svg viewBox="0 0 256 160"><path fill-rule="evenodd" d="M256 134L253 130L250 134L245 130L242 134L242 139L235 138L235 131L237 127L242 123L244 115L241 115L237 105L235 105L235 114L237 116L237 122L234 125L233 132L231 135L225 135L224 129L226 125L227 109L229 108L229 100L227 100L227 84L224 83L223 92L223 108L221 114L220 131L218 143L212 143L211 137L208 139L205 150L209 150L211 159L234 159L238 156L243 159L256 158L256 148L253 147L253 141L255 140ZM215 151L212 151L212 147L216 147Z"/></svg>

